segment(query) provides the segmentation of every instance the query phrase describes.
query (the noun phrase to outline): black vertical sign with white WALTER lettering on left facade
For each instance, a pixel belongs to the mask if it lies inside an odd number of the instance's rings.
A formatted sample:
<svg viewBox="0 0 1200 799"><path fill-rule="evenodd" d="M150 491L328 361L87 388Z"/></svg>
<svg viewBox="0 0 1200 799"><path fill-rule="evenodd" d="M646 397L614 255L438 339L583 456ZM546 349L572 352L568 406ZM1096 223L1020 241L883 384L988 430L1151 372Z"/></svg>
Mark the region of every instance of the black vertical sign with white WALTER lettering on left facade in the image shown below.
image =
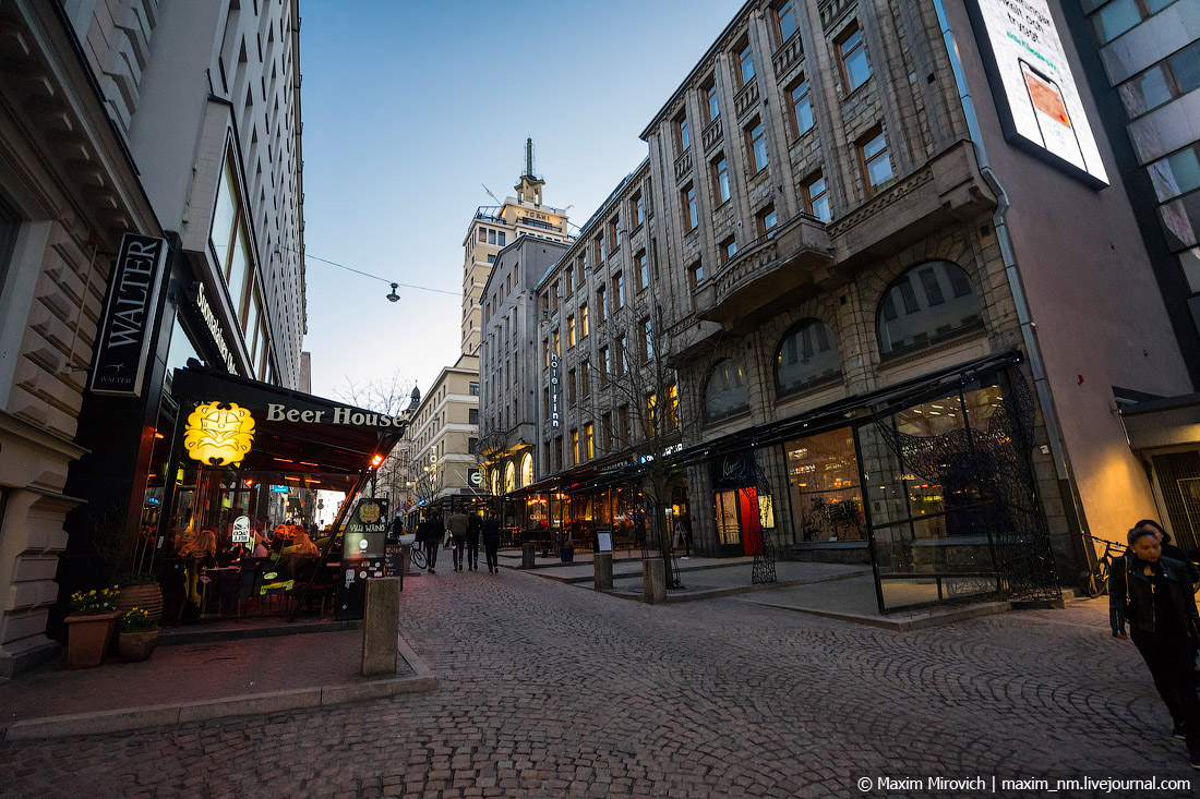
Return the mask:
<svg viewBox="0 0 1200 799"><path fill-rule="evenodd" d="M91 358L92 394L142 395L150 325L167 263L167 240L126 233L108 280L108 302Z"/></svg>

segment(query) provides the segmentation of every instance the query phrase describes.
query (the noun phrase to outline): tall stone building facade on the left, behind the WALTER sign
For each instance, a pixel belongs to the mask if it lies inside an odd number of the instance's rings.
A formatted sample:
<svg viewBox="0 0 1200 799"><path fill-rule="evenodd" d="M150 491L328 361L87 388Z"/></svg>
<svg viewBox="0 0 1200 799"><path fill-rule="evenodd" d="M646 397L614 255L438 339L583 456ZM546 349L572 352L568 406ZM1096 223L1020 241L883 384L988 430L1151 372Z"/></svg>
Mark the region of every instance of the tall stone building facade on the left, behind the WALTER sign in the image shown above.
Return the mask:
<svg viewBox="0 0 1200 799"><path fill-rule="evenodd" d="M157 523L172 370L196 358L295 388L306 323L298 4L0 16L0 407L19 441L0 444L4 674L53 653L66 597L100 579L100 528ZM89 370L126 233L168 254L136 396L101 396Z"/></svg>

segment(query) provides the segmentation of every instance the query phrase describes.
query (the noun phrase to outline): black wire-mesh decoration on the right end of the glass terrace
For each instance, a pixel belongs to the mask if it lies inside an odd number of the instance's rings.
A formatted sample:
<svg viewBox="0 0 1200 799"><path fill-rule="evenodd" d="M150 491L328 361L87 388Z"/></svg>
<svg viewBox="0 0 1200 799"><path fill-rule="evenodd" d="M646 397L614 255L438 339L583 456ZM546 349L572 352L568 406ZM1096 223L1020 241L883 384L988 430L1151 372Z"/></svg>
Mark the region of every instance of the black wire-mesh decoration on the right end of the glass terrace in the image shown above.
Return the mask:
<svg viewBox="0 0 1200 799"><path fill-rule="evenodd" d="M887 420L876 428L905 468L946 486L972 487L1006 513L989 519L1001 593L1028 600L1062 596L1030 458L1033 451L1034 404L1025 378L1007 372L1000 407L986 429L970 426L938 435L901 433ZM966 380L962 383L966 384ZM961 388L960 388L961 400ZM998 523L1006 517L1008 524Z"/></svg>

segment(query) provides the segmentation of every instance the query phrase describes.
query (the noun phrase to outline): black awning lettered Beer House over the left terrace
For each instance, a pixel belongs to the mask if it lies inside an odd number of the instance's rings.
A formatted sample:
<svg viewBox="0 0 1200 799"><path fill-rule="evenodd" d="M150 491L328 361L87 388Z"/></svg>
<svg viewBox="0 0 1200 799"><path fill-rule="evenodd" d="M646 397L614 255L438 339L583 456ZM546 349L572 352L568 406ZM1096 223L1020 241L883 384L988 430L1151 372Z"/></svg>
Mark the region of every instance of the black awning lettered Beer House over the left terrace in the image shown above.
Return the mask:
<svg viewBox="0 0 1200 799"><path fill-rule="evenodd" d="M378 411L250 380L188 362L175 370L172 395L186 420L200 403L236 403L254 419L242 469L298 474L359 474L378 465L408 422Z"/></svg>

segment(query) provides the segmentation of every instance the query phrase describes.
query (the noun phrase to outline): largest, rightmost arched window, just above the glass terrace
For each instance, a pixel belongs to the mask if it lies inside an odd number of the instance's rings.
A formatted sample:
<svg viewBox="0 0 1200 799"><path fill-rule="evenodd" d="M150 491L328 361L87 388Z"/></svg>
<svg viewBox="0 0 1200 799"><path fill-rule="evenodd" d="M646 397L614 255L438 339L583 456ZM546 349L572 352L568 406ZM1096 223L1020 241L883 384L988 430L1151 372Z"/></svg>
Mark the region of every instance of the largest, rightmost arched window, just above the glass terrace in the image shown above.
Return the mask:
<svg viewBox="0 0 1200 799"><path fill-rule="evenodd" d="M958 264L934 260L898 277L880 305L880 352L914 349L983 324L979 298Z"/></svg>

